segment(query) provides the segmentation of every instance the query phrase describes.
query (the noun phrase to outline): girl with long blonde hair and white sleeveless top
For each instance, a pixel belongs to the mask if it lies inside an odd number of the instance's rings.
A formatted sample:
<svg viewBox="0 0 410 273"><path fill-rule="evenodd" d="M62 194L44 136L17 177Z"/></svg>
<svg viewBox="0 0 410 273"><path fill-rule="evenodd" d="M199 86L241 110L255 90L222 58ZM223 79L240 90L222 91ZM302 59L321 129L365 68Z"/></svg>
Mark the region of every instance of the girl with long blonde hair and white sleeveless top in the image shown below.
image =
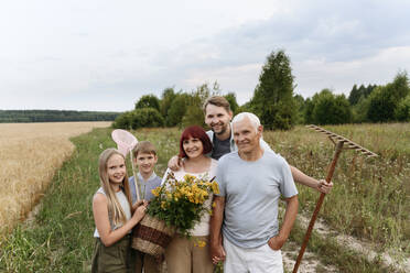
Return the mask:
<svg viewBox="0 0 410 273"><path fill-rule="evenodd" d="M131 206L126 160L116 149L101 153L98 171L101 187L93 198L96 242L91 272L130 272L130 232L145 215L147 204Z"/></svg>

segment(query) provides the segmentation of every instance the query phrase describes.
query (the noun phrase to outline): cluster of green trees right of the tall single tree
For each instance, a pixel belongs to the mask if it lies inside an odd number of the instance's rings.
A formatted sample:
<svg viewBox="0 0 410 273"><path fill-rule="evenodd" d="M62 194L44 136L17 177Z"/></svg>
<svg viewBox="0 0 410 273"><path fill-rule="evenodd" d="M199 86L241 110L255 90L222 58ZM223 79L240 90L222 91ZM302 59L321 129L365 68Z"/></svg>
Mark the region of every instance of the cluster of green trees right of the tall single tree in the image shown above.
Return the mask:
<svg viewBox="0 0 410 273"><path fill-rule="evenodd" d="M349 96L323 89L312 98L298 98L303 123L343 124L410 121L410 87L406 72L387 85L354 85Z"/></svg>

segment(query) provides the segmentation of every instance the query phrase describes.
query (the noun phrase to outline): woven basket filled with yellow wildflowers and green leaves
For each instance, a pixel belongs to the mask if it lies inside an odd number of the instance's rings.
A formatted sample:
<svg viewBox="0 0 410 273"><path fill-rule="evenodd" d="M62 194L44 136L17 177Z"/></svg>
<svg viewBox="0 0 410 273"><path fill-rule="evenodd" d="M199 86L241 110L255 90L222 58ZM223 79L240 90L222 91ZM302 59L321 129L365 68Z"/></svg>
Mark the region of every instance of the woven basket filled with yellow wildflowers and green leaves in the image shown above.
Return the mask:
<svg viewBox="0 0 410 273"><path fill-rule="evenodd" d="M190 230L203 214L211 214L204 203L219 188L213 179L185 175L175 179L172 172L165 182L152 190L147 215L133 232L132 248L151 255L161 255L175 231L190 237Z"/></svg>

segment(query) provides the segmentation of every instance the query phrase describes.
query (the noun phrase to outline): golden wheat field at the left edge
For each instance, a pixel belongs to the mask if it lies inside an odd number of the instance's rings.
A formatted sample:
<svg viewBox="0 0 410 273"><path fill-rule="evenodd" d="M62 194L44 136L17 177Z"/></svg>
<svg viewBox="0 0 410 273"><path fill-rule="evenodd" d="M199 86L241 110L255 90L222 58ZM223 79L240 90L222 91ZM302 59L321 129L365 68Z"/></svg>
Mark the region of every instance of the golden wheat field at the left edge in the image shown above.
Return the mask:
<svg viewBox="0 0 410 273"><path fill-rule="evenodd" d="M0 227L11 229L42 197L74 145L69 138L111 122L0 123Z"/></svg>

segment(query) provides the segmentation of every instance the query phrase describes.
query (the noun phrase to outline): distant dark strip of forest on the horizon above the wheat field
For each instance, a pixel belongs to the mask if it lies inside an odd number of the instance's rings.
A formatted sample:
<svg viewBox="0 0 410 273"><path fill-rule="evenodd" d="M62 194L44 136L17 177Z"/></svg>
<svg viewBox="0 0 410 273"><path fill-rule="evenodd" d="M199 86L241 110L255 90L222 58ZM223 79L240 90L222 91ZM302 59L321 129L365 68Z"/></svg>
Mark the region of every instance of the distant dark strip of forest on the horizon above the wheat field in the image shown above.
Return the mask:
<svg viewBox="0 0 410 273"><path fill-rule="evenodd" d="M120 112L67 110L0 110L0 123L114 121Z"/></svg>

